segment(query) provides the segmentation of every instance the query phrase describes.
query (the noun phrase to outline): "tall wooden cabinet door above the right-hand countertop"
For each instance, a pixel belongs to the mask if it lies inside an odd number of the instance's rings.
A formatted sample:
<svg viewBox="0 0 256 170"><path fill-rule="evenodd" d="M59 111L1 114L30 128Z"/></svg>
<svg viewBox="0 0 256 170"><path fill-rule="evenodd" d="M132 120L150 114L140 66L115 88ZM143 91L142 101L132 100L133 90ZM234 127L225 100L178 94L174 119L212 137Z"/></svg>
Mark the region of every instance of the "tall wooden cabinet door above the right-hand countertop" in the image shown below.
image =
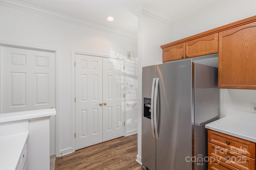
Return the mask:
<svg viewBox="0 0 256 170"><path fill-rule="evenodd" d="M256 89L256 22L219 32L219 88Z"/></svg>

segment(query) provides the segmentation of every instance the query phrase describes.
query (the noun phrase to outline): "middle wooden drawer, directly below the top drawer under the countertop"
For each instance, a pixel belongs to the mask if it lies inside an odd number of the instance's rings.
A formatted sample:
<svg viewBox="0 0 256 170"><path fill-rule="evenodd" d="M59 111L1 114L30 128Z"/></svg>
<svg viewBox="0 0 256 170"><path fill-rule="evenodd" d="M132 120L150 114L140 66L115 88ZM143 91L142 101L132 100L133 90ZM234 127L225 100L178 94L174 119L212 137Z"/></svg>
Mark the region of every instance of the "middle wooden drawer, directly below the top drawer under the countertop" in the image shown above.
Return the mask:
<svg viewBox="0 0 256 170"><path fill-rule="evenodd" d="M255 170L255 159L208 143L208 155L240 170Z"/></svg>

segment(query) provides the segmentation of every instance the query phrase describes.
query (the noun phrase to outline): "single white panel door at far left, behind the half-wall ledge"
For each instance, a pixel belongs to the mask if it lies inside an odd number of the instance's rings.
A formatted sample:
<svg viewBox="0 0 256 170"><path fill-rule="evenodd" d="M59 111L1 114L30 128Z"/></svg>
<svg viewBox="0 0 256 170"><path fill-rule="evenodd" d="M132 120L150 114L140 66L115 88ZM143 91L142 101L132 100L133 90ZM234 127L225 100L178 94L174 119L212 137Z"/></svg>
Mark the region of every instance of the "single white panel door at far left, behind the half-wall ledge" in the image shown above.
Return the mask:
<svg viewBox="0 0 256 170"><path fill-rule="evenodd" d="M55 53L1 46L0 87L0 113L55 107ZM50 154L55 154L55 116Z"/></svg>

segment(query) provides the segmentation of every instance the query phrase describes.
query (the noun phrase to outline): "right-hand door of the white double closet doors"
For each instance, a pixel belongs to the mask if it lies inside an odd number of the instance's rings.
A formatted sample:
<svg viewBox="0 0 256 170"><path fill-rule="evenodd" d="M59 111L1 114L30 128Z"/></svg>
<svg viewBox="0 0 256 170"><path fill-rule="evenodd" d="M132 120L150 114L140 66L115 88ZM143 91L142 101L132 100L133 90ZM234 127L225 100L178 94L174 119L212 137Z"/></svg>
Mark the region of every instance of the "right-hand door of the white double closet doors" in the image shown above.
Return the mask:
<svg viewBox="0 0 256 170"><path fill-rule="evenodd" d="M124 136L124 60L103 58L103 141Z"/></svg>

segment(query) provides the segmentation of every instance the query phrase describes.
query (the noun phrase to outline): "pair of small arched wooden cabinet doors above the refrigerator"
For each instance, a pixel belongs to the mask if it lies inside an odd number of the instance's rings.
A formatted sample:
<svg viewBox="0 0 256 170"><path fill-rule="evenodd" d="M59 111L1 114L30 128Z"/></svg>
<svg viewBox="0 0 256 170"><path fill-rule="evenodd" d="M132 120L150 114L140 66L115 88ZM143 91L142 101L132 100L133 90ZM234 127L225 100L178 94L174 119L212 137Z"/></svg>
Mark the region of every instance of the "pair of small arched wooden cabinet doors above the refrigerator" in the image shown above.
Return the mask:
<svg viewBox="0 0 256 170"><path fill-rule="evenodd" d="M163 62L218 53L218 33L163 48Z"/></svg>

